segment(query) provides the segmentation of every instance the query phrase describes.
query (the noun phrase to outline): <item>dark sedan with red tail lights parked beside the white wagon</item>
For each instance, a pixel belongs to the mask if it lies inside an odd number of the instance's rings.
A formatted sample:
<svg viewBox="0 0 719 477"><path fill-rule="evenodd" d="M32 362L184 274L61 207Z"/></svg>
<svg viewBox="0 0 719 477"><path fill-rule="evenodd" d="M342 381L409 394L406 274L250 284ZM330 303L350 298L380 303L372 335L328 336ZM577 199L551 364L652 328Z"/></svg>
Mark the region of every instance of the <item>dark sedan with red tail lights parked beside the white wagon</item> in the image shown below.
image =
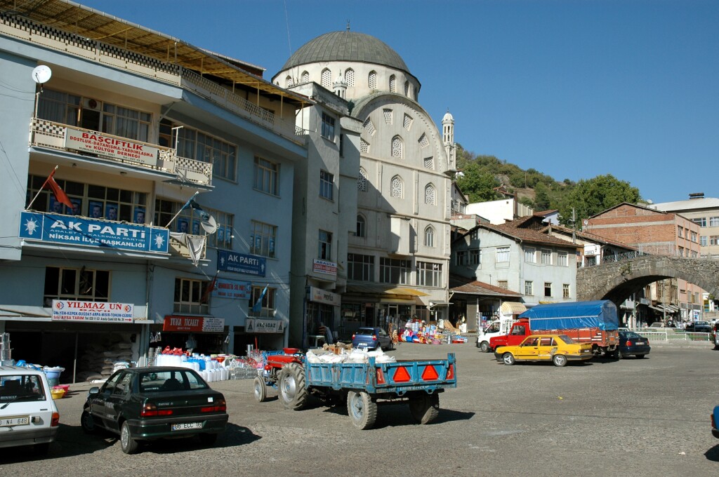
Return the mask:
<svg viewBox="0 0 719 477"><path fill-rule="evenodd" d="M212 445L227 425L221 392L192 369L159 366L116 371L102 387L93 387L83 406L86 432L102 427L120 436L126 454L142 441L199 436Z"/></svg>

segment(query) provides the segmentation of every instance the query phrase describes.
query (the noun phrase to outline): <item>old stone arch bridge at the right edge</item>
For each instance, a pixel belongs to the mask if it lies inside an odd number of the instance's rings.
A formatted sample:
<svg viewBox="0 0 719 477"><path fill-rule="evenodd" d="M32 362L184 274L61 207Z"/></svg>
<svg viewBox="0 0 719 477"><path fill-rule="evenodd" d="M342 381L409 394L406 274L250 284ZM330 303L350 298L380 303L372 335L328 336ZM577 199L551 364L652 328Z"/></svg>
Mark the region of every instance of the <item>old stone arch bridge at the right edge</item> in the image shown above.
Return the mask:
<svg viewBox="0 0 719 477"><path fill-rule="evenodd" d="M686 280L719 297L719 259L644 255L577 269L577 300L619 305L636 290L665 278Z"/></svg>

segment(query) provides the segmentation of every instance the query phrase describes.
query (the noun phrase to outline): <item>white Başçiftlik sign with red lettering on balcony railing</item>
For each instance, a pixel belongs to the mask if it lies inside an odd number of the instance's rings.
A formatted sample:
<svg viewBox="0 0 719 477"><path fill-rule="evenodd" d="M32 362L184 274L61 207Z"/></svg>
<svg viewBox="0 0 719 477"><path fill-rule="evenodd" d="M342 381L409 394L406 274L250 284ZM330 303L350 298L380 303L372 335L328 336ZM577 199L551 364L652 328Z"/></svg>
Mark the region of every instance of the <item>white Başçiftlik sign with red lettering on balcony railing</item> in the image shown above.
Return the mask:
<svg viewBox="0 0 719 477"><path fill-rule="evenodd" d="M65 128L65 147L75 149L75 151L90 152L122 161L140 162L150 166L157 165L159 152L157 147L152 147L148 144L73 128Z"/></svg>

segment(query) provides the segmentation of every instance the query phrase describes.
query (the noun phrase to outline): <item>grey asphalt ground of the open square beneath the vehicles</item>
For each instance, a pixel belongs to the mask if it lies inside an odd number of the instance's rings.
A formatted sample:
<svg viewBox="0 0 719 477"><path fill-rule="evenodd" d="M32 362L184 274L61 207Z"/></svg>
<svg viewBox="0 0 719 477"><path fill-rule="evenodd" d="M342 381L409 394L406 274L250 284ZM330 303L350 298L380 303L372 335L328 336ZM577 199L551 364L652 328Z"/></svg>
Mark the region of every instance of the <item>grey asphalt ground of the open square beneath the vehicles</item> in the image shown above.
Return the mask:
<svg viewBox="0 0 719 477"><path fill-rule="evenodd" d="M252 380L212 383L226 396L226 432L211 448L165 440L124 455L116 437L80 427L90 385L57 401L60 432L46 457L0 450L3 476L716 476L719 351L710 343L652 343L644 359L595 358L557 368L505 366L474 343L402 343L402 359L457 355L457 389L438 420L413 422L406 405L380 406L357 430L344 407L312 401L286 411L258 403Z"/></svg>

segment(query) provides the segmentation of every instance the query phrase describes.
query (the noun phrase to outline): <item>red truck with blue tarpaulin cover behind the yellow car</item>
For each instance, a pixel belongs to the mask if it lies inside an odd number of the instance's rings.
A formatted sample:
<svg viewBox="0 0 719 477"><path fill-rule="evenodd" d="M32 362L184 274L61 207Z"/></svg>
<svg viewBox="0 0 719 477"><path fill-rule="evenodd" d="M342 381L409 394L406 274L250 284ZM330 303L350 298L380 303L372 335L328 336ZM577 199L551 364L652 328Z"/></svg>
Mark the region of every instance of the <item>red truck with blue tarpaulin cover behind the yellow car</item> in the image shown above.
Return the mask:
<svg viewBox="0 0 719 477"><path fill-rule="evenodd" d="M617 356L618 328L617 307L609 300L536 305L519 315L508 334L491 338L490 348L518 345L533 333L551 333L591 343L595 355Z"/></svg>

